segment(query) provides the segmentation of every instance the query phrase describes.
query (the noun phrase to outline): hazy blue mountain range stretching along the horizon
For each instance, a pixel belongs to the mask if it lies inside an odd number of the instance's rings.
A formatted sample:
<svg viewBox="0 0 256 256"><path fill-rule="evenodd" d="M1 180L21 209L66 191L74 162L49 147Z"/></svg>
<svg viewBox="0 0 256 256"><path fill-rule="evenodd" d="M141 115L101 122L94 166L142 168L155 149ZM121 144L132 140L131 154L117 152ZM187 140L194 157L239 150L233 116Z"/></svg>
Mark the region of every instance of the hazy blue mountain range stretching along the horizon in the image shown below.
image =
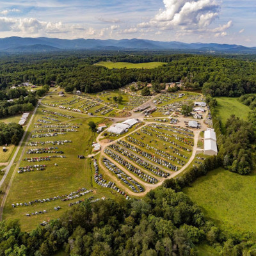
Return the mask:
<svg viewBox="0 0 256 256"><path fill-rule="evenodd" d="M186 44L183 42L160 42L144 39L99 40L99 39L59 39L22 38L18 36L0 38L0 52L52 52L67 50L175 50L227 53L255 53L256 47L230 44Z"/></svg>

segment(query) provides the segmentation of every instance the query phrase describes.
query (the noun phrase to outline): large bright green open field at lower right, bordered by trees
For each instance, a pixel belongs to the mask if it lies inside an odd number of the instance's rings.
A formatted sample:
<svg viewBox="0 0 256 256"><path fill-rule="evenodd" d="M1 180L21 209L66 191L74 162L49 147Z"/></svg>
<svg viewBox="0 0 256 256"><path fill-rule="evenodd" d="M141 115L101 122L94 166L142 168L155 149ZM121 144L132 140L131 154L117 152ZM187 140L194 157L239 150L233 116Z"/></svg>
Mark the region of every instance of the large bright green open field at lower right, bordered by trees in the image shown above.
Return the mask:
<svg viewBox="0 0 256 256"><path fill-rule="evenodd" d="M184 189L205 216L228 232L255 232L256 175L241 176L218 168Z"/></svg>

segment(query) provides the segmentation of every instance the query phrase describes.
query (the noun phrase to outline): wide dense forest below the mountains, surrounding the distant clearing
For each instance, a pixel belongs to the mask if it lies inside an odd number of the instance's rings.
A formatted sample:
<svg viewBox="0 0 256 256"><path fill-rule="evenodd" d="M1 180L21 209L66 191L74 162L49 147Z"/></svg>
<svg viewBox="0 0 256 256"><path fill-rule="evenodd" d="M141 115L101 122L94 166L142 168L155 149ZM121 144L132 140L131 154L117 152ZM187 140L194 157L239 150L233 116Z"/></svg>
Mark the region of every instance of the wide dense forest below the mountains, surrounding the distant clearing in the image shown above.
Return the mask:
<svg viewBox="0 0 256 256"><path fill-rule="evenodd" d="M184 81L186 88L202 89L212 96L235 97L256 92L256 63L192 54L137 56L120 54L88 56L38 56L1 58L0 88L30 81L44 85L56 82L66 92L75 88L82 92L116 89L133 81L170 83ZM164 61L166 65L152 69L108 69L93 65L100 60L145 62Z"/></svg>

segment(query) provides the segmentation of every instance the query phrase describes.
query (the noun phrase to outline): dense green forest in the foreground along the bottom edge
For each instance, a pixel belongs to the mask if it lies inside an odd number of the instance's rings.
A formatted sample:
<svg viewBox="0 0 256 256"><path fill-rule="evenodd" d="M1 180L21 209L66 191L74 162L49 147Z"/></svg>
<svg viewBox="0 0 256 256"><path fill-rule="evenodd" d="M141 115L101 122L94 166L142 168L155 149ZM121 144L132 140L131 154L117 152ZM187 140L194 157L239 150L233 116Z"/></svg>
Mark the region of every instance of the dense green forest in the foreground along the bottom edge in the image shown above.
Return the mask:
<svg viewBox="0 0 256 256"><path fill-rule="evenodd" d="M30 233L17 220L0 223L0 255L189 256L202 242L227 256L256 253L251 241L225 236L188 196L168 188L143 200L85 201Z"/></svg>

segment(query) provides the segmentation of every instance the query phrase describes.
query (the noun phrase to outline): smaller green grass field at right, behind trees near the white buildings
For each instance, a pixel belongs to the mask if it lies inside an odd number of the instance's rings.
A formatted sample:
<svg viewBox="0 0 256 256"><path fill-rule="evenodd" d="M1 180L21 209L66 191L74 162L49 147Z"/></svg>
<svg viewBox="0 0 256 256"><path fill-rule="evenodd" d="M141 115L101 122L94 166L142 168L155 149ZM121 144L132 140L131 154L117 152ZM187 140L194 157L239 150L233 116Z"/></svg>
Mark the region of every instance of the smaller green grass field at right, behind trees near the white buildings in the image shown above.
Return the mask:
<svg viewBox="0 0 256 256"><path fill-rule="evenodd" d="M238 98L217 97L218 105L216 107L217 115L220 116L221 122L225 125L230 115L246 120L251 109L239 102Z"/></svg>

